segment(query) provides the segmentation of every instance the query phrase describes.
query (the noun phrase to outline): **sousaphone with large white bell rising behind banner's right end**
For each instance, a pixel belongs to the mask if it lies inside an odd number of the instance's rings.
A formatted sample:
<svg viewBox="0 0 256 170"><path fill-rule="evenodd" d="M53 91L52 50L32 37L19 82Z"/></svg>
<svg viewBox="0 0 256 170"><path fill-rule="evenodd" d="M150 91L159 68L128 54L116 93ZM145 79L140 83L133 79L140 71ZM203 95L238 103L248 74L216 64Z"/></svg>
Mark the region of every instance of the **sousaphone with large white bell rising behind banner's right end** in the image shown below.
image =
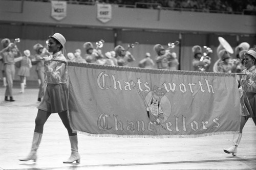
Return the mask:
<svg viewBox="0 0 256 170"><path fill-rule="evenodd" d="M229 43L223 38L223 37L218 37L218 40L220 42L219 46L217 47L217 55L219 57L219 52L221 50L226 50L228 53L230 54L233 54L234 51L233 51L233 48L229 45ZM213 67L213 70L214 72L220 72L218 70L218 63L221 61L221 59L219 58L215 64L214 64L214 67Z"/></svg>

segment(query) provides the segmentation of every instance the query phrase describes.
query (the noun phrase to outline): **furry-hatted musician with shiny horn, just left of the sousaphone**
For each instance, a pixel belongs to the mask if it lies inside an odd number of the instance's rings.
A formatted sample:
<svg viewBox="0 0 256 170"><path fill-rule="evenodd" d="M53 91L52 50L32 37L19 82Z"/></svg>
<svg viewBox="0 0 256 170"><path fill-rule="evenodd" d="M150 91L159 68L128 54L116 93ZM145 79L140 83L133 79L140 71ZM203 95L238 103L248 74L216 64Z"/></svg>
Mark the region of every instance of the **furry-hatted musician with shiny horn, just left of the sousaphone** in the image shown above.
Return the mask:
<svg viewBox="0 0 256 170"><path fill-rule="evenodd" d="M208 56L203 56L202 47L195 45L192 47L194 59L192 65L195 71L209 71L211 59Z"/></svg>

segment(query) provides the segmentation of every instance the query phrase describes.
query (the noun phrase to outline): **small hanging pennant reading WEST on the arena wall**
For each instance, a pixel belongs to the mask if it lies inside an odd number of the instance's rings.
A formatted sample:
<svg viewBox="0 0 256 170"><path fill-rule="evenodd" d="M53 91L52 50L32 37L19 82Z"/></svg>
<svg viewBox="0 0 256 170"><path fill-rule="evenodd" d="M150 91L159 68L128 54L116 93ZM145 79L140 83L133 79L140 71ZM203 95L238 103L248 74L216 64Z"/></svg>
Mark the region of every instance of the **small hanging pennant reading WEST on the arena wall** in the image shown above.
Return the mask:
<svg viewBox="0 0 256 170"><path fill-rule="evenodd" d="M67 2L51 1L52 13L51 16L56 20L61 20L67 16Z"/></svg>

